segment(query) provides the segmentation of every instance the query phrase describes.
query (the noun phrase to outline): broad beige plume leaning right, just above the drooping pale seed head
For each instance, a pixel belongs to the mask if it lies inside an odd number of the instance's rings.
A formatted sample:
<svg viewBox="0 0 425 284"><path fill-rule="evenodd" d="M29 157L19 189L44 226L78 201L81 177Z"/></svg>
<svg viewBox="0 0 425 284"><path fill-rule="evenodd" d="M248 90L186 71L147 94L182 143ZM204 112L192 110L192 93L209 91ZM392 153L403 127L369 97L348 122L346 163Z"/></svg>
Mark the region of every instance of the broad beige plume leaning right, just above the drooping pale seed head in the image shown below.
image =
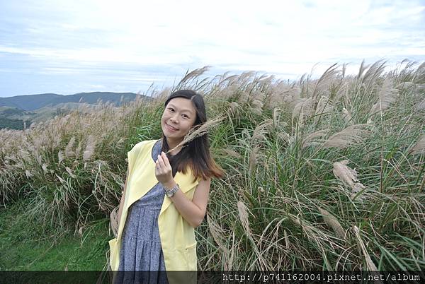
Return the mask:
<svg viewBox="0 0 425 284"><path fill-rule="evenodd" d="M369 133L369 131L363 129L363 127L367 125L368 124L355 124L348 126L346 129L329 137L323 144L323 147L336 147L343 149L353 145L354 143L358 143L363 139L363 136Z"/></svg>

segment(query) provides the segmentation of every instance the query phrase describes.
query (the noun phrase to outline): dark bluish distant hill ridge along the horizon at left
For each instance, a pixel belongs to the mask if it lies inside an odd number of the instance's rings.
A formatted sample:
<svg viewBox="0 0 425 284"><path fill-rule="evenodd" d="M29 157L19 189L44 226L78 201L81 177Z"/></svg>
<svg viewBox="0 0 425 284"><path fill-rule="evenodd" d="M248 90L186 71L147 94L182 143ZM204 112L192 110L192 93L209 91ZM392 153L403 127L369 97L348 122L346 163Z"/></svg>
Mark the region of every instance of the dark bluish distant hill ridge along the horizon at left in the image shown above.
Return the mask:
<svg viewBox="0 0 425 284"><path fill-rule="evenodd" d="M115 107L125 102L135 100L136 93L112 93L112 92L91 92L77 93L74 95L38 94L38 95L16 95L13 97L0 97L0 107L16 107L18 110L33 111L41 107L56 107L67 102L81 102L97 104L102 102L112 102ZM150 100L152 97L141 95L143 100Z"/></svg>

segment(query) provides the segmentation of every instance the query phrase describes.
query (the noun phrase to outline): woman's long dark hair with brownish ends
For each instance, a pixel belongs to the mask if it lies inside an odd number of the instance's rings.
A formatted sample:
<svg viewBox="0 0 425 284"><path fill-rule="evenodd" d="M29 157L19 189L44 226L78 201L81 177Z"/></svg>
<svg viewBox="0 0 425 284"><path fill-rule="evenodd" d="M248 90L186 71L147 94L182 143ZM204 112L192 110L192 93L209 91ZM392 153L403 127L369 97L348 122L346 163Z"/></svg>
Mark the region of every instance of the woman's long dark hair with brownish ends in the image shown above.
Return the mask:
<svg viewBox="0 0 425 284"><path fill-rule="evenodd" d="M193 107L196 110L196 121L193 123L193 126L207 122L205 103L202 95L193 90L177 90L169 95L165 101L164 107L166 107L169 101L174 97L185 97L186 99L191 100ZM224 170L222 170L222 168L211 158L208 134L196 137L192 141L185 143L183 146L184 147L181 148L179 153L176 155L170 155L170 153L166 155L169 159L171 168L173 169L173 177L177 172L186 174L187 167L190 167L192 170L193 182L195 182L196 179L208 179L209 177L222 178L225 174ZM164 132L162 133L161 150L164 151L164 153L169 150L169 145L166 143Z"/></svg>

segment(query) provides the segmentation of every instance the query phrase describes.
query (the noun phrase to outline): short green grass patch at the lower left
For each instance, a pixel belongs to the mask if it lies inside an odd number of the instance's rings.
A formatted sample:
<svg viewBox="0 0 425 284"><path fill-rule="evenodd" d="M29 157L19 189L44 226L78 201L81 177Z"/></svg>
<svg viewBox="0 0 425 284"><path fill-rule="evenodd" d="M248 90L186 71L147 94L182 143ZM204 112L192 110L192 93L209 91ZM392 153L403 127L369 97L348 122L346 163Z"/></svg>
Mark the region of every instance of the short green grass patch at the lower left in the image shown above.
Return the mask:
<svg viewBox="0 0 425 284"><path fill-rule="evenodd" d="M0 210L0 270L101 271L108 251L108 222L92 223L81 236L69 230L43 234L26 218L25 202Z"/></svg>

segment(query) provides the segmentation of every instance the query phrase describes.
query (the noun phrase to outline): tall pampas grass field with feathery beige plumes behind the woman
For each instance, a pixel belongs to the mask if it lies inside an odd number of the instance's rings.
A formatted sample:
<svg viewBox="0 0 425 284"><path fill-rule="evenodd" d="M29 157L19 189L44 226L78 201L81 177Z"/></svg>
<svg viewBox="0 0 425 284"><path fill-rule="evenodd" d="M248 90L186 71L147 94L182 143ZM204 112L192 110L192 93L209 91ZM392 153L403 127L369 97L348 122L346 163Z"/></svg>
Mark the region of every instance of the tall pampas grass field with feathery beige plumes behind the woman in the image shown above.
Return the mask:
<svg viewBox="0 0 425 284"><path fill-rule="evenodd" d="M423 270L425 63L330 66L319 78L186 73L152 102L83 106L0 131L2 211L26 200L42 235L82 235L118 206L127 152L162 135L166 96L204 95L215 161L196 229L200 270ZM113 224L109 236L113 238ZM102 254L106 254L107 249ZM99 268L101 269L101 268Z"/></svg>

